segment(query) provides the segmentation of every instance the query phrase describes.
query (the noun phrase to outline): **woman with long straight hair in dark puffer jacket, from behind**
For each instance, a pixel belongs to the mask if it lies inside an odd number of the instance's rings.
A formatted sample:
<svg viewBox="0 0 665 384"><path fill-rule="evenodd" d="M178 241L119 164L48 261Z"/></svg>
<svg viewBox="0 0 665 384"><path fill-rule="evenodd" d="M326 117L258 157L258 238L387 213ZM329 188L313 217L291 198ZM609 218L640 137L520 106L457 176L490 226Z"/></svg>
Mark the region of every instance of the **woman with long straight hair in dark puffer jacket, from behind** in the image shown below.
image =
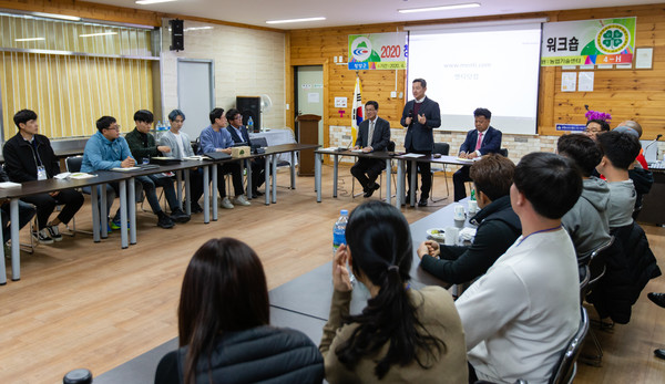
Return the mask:
<svg viewBox="0 0 665 384"><path fill-rule="evenodd" d="M183 280L181 347L162 357L155 383L320 383L316 345L268 323L266 277L256 253L235 239L208 240Z"/></svg>

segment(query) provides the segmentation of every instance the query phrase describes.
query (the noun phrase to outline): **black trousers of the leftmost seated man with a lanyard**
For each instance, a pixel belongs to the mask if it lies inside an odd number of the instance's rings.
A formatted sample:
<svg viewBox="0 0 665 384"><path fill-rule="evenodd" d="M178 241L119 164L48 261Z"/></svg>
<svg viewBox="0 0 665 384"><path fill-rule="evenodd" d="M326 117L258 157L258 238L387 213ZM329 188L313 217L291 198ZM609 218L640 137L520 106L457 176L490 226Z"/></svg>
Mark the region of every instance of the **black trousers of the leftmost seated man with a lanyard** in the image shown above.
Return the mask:
<svg viewBox="0 0 665 384"><path fill-rule="evenodd" d="M37 221L39 229L44 229L49 222L49 217L57 205L64 204L64 207L58 215L60 221L68 224L74 215L81 209L84 198L83 195L74 189L61 190L58 195L39 194L21 198L37 207Z"/></svg>

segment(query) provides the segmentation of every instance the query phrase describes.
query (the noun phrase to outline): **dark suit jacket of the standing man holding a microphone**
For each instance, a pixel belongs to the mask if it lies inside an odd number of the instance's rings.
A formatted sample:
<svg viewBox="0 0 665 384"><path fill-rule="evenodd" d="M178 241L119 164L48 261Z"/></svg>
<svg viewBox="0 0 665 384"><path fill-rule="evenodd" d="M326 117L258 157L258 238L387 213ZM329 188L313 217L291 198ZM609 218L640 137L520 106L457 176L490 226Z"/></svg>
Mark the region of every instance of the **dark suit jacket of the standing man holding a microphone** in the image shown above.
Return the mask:
<svg viewBox="0 0 665 384"><path fill-rule="evenodd" d="M434 135L432 128L441 126L441 113L439 112L439 103L428 98L427 96L420 105L419 115L424 115L427 122L424 125L418 123L418 116L412 112L415 100L405 105L400 124L407 127L407 136L405 137L405 148L407 151L424 151L431 152L434 146ZM406 120L411 113L411 125L407 126Z"/></svg>

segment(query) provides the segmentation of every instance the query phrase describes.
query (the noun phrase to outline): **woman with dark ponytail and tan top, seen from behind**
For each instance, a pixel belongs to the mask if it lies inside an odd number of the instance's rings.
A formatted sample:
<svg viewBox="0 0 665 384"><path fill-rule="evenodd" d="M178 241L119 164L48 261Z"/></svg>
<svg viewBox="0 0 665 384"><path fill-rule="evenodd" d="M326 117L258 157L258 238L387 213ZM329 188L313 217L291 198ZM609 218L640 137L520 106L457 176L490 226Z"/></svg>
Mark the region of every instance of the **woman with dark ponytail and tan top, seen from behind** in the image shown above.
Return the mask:
<svg viewBox="0 0 665 384"><path fill-rule="evenodd" d="M332 261L332 303L319 350L330 383L464 383L460 316L441 287L409 287L413 259L409 224L378 200L358 206L346 227L348 246ZM347 262L371 299L349 315Z"/></svg>

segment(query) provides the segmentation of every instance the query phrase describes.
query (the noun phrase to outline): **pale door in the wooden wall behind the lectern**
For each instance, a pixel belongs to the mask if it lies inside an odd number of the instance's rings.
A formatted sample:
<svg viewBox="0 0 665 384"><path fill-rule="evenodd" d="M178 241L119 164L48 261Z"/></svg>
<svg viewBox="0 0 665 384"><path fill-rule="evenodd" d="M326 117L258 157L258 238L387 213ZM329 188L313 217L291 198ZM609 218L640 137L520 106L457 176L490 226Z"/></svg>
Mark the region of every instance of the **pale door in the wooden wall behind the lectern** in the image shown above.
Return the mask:
<svg viewBox="0 0 665 384"><path fill-rule="evenodd" d="M296 68L296 115L318 115L324 117L324 66L305 65ZM324 145L324 120L319 121L319 145Z"/></svg>

